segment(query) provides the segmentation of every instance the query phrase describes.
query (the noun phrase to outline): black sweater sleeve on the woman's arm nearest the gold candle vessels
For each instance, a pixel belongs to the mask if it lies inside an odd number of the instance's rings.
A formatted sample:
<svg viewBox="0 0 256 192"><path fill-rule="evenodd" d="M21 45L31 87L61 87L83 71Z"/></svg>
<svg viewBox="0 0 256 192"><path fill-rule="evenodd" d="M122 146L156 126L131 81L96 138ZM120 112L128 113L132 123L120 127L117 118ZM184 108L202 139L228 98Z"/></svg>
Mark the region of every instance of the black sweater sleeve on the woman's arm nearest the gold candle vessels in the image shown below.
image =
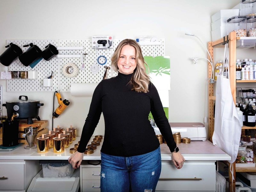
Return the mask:
<svg viewBox="0 0 256 192"><path fill-rule="evenodd" d="M92 134L99 123L100 115L102 112L101 109L101 97L102 97L102 81L95 88L92 95L92 102L90 105L89 113L84 123L81 139L77 151L80 153L84 153L85 148L89 140L92 137Z"/></svg>

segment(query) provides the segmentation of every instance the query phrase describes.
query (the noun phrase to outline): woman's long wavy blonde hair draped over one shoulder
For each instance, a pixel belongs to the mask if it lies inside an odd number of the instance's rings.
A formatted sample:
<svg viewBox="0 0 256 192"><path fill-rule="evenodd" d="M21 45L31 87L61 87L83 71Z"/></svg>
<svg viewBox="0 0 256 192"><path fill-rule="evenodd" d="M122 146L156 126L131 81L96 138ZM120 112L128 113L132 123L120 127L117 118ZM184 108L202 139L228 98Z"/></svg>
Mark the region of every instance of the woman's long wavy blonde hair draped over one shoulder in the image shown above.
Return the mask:
<svg viewBox="0 0 256 192"><path fill-rule="evenodd" d="M124 39L121 41L111 57L111 66L114 71L118 71L117 62L119 60L121 49L124 45L130 45L134 47L136 51L136 68L134 69L132 78L129 82L132 85L132 90L146 93L148 92L148 85L150 83L150 77L146 73L146 69L148 73L149 69L147 63L144 61L140 45L136 41L133 39Z"/></svg>

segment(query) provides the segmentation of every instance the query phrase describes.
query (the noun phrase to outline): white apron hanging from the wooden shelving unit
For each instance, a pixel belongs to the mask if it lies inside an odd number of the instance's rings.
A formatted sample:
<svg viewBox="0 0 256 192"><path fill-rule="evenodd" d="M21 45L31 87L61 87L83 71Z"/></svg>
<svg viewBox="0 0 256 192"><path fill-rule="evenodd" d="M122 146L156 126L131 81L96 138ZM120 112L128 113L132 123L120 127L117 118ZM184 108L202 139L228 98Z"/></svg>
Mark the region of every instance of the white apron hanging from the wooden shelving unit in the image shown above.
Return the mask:
<svg viewBox="0 0 256 192"><path fill-rule="evenodd" d="M220 75L217 77L216 85L215 121L212 143L231 156L231 160L228 162L233 163L238 153L240 137L241 126L231 94L229 79Z"/></svg>

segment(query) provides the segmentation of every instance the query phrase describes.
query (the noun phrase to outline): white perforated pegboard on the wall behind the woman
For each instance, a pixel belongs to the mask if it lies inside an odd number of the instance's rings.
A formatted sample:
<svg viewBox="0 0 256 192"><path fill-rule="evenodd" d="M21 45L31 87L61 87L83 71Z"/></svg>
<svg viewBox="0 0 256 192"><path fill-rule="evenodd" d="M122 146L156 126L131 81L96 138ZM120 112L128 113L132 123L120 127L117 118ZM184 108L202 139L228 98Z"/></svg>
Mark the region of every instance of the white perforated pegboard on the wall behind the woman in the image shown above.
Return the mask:
<svg viewBox="0 0 256 192"><path fill-rule="evenodd" d="M19 60L14 61L9 67L9 71L38 71L38 79L10 79L7 80L7 92L52 92L60 90L62 92L70 91L71 83L99 83L105 73L104 66L110 66L111 56L114 53L116 46L123 39L113 40L113 49L92 49L91 39L53 39L53 40L7 40L7 44L17 44L24 52L27 48L23 45L33 43L37 45L42 51L44 47L51 43L54 46L59 47L84 47L83 50L59 50L59 55L80 55L77 58L57 58L54 57L50 61L41 60L33 69L25 67ZM165 41L160 39L161 45L141 45L142 54L144 56L164 56L165 55ZM87 55L84 55L84 54ZM104 55L107 58L106 65L100 65L97 63L97 59L100 55ZM101 59L100 59L101 60ZM104 59L103 59L104 60ZM103 61L101 60L101 61ZM75 77L65 77L63 75L63 66L66 63L75 63L79 68L79 73ZM82 64L85 64L85 69L81 70ZM98 73L93 74L90 71L92 65L98 65L100 70ZM53 71L53 86L44 87L43 79L51 75ZM108 78L116 76L117 73L111 68L108 70Z"/></svg>

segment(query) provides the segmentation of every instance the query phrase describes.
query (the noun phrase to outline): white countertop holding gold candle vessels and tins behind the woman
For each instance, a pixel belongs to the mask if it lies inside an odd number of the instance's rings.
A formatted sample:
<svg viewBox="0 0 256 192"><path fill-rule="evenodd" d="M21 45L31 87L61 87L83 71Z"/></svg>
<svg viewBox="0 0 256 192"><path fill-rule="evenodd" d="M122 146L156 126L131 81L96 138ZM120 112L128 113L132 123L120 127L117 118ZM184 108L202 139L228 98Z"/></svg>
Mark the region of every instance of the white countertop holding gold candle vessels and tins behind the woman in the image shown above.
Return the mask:
<svg viewBox="0 0 256 192"><path fill-rule="evenodd" d="M89 141L91 143L93 138ZM73 148L76 143L80 141L80 137L76 137L76 140L72 142L72 144L69 145L68 148L65 148L65 151L60 154L53 153L53 148L50 148L47 153L37 153L36 148L35 149L25 149L24 147L26 145L21 145L20 147L12 150L12 151L0 151L0 160L67 160L69 156L72 154L69 153L69 149ZM102 140L103 142L103 140ZM97 149L94 150L94 153L91 155L84 154L83 160L100 160L100 148L102 145L102 142L100 143L100 146L97 146ZM191 141L193 142L193 141ZM198 142L198 150L207 151L207 145L205 145L207 141L196 141ZM209 142L209 141L208 141ZM179 146L179 144L178 144ZM180 151L182 152L182 148L184 145L180 145ZM190 144L186 144L187 151L189 151ZM192 147L192 145L191 145ZM192 150L192 149L191 149ZM230 160L231 157L228 156L228 154L222 153L222 154L216 154L213 152L210 153L202 153L198 152L193 154L182 154L185 158L185 160L189 161L216 161L216 160ZM172 160L171 154L161 154L162 161L169 161Z"/></svg>

